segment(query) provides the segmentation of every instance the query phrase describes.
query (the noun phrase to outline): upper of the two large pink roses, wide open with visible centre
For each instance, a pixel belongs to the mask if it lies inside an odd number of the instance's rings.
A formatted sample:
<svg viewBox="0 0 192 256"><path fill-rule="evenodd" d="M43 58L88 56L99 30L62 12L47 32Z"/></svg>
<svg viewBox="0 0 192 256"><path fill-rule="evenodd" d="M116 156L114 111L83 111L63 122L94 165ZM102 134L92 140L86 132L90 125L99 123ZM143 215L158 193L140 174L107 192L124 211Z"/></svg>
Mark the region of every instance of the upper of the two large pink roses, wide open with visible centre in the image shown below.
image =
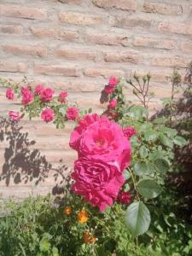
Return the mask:
<svg viewBox="0 0 192 256"><path fill-rule="evenodd" d="M86 115L72 132L69 144L78 151L79 156L85 156L89 160L113 162L119 164L121 170L131 160L130 142L121 127L106 116Z"/></svg>

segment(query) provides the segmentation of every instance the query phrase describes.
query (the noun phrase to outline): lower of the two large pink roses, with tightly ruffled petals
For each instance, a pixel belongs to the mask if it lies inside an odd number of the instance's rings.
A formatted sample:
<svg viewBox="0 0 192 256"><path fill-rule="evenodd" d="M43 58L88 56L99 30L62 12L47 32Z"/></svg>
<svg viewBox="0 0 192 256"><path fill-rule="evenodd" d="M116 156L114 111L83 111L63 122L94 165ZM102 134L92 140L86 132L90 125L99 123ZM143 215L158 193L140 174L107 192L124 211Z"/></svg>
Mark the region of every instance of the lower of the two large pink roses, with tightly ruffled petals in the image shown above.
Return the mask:
<svg viewBox="0 0 192 256"><path fill-rule="evenodd" d="M85 201L99 207L101 212L113 205L119 189L125 183L118 166L86 158L75 161L72 177L75 180L73 191L83 195Z"/></svg>

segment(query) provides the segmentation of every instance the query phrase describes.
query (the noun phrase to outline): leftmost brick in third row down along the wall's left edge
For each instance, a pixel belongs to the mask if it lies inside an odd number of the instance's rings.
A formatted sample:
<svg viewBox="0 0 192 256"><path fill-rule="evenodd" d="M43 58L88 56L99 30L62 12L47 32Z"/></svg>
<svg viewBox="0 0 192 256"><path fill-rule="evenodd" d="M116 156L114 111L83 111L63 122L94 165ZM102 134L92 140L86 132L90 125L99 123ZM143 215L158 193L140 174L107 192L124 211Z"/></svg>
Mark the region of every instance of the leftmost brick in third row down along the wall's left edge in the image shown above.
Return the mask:
<svg viewBox="0 0 192 256"><path fill-rule="evenodd" d="M3 50L14 55L34 55L39 57L47 55L47 49L38 45L8 44L3 45Z"/></svg>

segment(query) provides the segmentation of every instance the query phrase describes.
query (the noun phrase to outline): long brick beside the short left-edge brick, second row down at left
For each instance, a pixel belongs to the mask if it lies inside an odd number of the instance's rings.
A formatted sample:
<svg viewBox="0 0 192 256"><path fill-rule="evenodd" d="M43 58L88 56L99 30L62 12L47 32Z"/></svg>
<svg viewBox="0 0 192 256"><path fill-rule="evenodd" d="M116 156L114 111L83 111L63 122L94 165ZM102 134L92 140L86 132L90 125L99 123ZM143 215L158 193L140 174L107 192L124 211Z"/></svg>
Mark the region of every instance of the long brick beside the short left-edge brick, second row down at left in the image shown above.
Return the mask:
<svg viewBox="0 0 192 256"><path fill-rule="evenodd" d="M78 32L59 29L57 27L49 28L31 26L30 30L33 36L37 38L52 38L65 41L74 41L75 39L79 38Z"/></svg>

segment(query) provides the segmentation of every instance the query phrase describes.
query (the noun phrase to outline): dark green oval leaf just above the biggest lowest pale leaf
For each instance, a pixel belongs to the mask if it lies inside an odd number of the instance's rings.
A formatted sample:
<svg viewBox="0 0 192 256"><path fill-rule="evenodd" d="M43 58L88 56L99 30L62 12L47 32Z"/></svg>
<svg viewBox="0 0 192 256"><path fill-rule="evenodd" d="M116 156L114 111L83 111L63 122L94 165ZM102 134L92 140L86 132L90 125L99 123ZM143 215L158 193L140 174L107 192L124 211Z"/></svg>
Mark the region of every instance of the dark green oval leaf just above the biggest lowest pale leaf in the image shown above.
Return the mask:
<svg viewBox="0 0 192 256"><path fill-rule="evenodd" d="M155 198L160 195L161 189L154 180L144 179L137 184L138 192L145 198Z"/></svg>

